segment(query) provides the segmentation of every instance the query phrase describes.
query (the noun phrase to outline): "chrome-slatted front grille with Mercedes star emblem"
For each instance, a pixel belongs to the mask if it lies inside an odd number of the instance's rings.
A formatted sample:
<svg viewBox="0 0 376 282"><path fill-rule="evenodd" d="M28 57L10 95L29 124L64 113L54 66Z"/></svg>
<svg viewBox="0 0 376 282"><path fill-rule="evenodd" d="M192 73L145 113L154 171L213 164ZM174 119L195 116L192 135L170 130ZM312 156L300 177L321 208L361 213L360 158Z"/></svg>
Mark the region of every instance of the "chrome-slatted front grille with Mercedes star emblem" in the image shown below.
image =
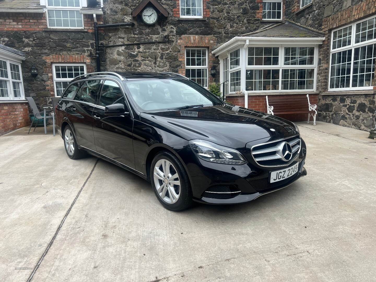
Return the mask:
<svg viewBox="0 0 376 282"><path fill-rule="evenodd" d="M286 145L286 143L288 143ZM302 140L299 135L255 145L251 149L253 158L262 167L280 167L291 164L300 152ZM288 152L291 153L288 153Z"/></svg>

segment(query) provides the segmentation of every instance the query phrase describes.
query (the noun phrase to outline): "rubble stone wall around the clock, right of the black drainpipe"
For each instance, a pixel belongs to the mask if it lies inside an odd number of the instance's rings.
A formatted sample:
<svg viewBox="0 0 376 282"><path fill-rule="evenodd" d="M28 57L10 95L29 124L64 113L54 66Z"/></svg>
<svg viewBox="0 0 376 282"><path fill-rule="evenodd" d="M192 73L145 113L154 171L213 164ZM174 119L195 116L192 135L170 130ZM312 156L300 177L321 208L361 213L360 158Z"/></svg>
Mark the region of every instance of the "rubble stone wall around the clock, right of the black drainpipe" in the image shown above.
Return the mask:
<svg viewBox="0 0 376 282"><path fill-rule="evenodd" d="M179 1L160 0L170 13L167 21L147 26L131 16L139 0L105 0L105 23L133 21L133 28L107 30L107 44L122 44L145 41L161 41L169 38L170 43L136 44L106 49L107 70L173 71L185 74L185 47L206 47L209 53L217 44L224 43L236 35L251 32L260 26L256 18L259 4L256 0L211 0L205 1L204 18L179 18ZM209 57L209 70L218 60ZM219 72L219 69L217 69ZM211 81L218 82L219 74Z"/></svg>

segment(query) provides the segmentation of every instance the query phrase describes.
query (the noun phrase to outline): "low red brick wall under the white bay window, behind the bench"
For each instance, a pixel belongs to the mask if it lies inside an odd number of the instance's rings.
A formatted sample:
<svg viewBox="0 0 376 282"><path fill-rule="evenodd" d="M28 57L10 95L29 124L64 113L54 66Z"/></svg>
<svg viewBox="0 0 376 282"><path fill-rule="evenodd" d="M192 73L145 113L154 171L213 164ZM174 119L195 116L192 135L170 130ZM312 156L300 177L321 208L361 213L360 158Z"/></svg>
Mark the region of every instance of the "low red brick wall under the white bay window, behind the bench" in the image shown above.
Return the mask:
<svg viewBox="0 0 376 282"><path fill-rule="evenodd" d="M253 109L260 112L267 112L266 106L266 95L255 95L255 96L248 96L248 108ZM295 98L306 98L306 94L285 94L285 95L278 95L278 97L295 97ZM228 96L226 98L226 102L244 107L244 96ZM309 95L309 102L312 105L318 105L318 94L311 94ZM269 106L273 106L270 105ZM307 101L307 109L308 109L308 101ZM277 115L279 117L286 118L287 120L291 121L306 121L308 118L308 114L288 114L288 115Z"/></svg>

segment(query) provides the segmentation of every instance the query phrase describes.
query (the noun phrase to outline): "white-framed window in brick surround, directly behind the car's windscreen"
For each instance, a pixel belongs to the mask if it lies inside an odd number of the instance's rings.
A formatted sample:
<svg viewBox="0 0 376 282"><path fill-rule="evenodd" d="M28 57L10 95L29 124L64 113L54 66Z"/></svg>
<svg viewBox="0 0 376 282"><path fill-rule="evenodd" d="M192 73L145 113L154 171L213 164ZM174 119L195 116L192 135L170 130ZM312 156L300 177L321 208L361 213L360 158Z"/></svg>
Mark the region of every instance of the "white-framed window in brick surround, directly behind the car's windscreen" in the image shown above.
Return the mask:
<svg viewBox="0 0 376 282"><path fill-rule="evenodd" d="M208 49L185 49L185 76L202 87L208 87Z"/></svg>

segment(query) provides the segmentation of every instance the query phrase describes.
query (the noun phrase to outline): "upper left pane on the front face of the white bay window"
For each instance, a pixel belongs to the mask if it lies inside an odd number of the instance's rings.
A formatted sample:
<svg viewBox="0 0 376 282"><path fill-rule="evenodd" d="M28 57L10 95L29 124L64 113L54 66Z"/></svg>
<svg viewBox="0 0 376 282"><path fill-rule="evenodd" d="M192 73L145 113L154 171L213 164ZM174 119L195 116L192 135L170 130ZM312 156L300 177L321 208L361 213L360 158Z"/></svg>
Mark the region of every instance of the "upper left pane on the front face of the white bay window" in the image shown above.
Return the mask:
<svg viewBox="0 0 376 282"><path fill-rule="evenodd" d="M248 47L248 65L278 64L279 47Z"/></svg>

